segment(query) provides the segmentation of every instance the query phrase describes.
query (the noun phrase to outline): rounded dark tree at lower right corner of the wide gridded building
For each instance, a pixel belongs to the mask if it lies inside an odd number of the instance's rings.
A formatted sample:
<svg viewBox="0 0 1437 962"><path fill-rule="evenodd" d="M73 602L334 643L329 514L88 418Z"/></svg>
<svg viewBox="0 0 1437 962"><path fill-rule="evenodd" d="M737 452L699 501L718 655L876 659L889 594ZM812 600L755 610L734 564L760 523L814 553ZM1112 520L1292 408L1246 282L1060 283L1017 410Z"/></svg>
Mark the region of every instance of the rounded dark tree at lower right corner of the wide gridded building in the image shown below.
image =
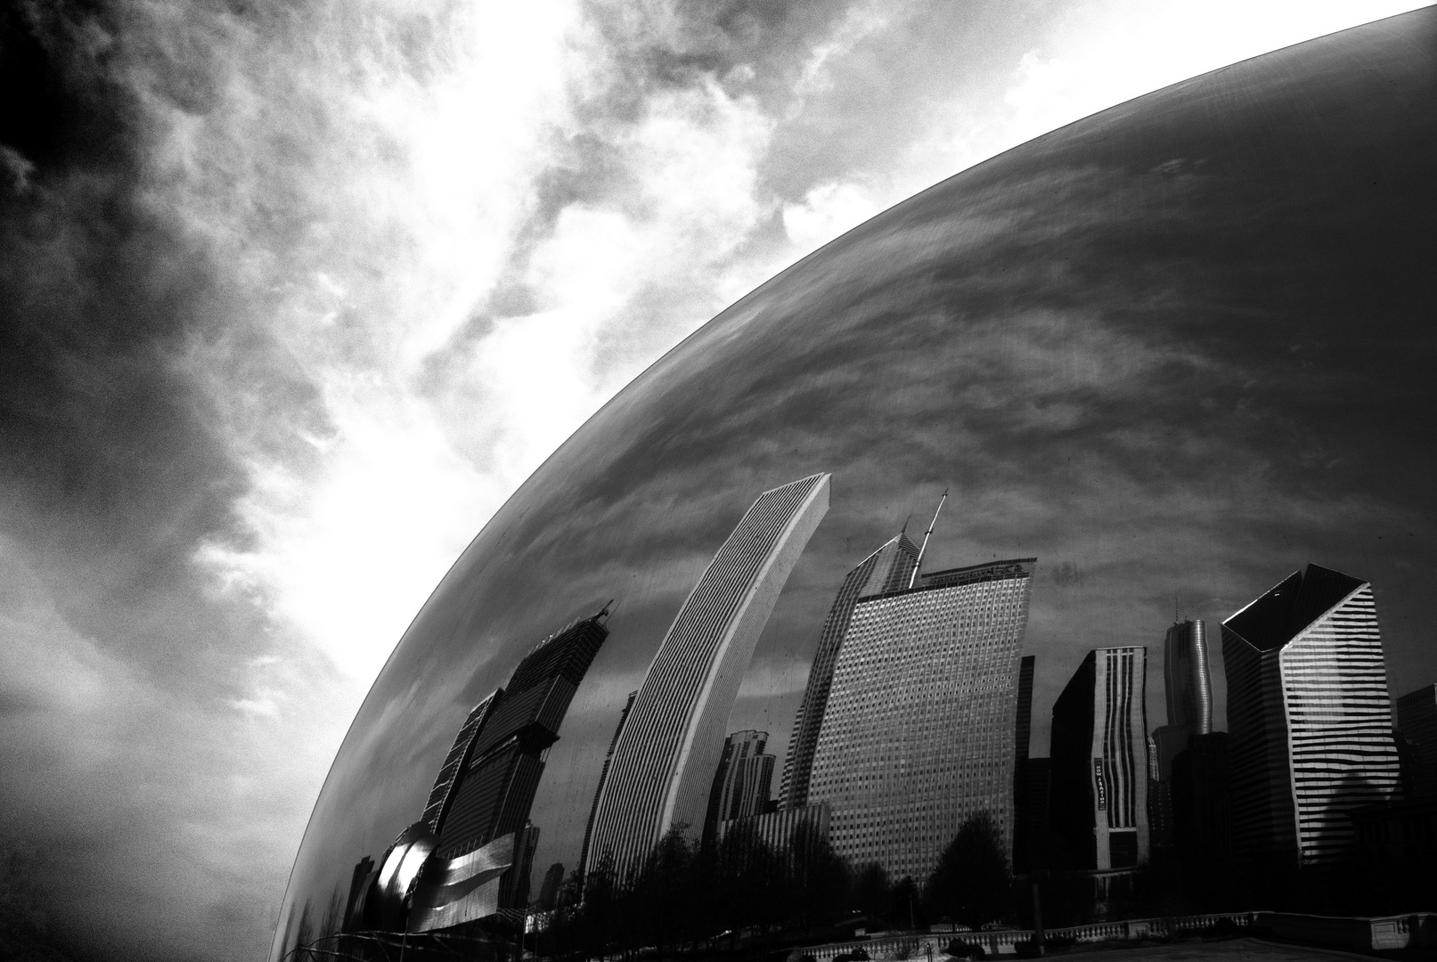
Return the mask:
<svg viewBox="0 0 1437 962"><path fill-rule="evenodd" d="M958 827L928 877L925 902L974 932L1003 916L1012 902L1012 876L1003 837L987 811Z"/></svg>

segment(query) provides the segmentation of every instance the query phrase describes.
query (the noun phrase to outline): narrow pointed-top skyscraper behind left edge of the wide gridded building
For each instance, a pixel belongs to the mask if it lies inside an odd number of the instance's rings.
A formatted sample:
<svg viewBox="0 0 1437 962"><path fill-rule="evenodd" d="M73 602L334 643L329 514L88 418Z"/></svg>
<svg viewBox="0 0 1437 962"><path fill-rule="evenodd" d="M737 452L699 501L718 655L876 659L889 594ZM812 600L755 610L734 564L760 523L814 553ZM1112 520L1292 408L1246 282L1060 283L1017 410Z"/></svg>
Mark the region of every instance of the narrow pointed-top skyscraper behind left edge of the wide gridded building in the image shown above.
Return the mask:
<svg viewBox="0 0 1437 962"><path fill-rule="evenodd" d="M854 606L859 597L908 587L917 567L918 546L908 540L907 533L900 531L859 561L838 589L838 597L833 599L833 606L823 619L823 630L819 632L818 650L813 653L808 686L803 689L803 702L793 718L793 735L789 738L789 751L783 760L783 784L779 790L782 808L802 808L808 804L813 749L818 748L818 732L823 727L823 711L828 708L828 695L833 685L833 665L838 662L838 649L854 616Z"/></svg>

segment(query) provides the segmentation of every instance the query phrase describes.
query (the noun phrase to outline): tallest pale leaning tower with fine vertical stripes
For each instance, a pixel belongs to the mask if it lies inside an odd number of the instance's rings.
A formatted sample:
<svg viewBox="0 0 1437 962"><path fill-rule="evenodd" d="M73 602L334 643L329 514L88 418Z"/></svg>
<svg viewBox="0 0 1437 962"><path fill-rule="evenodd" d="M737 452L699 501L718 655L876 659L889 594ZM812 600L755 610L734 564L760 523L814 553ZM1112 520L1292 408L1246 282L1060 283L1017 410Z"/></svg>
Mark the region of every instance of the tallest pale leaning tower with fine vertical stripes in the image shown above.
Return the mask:
<svg viewBox="0 0 1437 962"><path fill-rule="evenodd" d="M828 511L829 475L764 491L688 594L619 732L589 859L621 879L673 826L703 826L724 724L789 571Z"/></svg>

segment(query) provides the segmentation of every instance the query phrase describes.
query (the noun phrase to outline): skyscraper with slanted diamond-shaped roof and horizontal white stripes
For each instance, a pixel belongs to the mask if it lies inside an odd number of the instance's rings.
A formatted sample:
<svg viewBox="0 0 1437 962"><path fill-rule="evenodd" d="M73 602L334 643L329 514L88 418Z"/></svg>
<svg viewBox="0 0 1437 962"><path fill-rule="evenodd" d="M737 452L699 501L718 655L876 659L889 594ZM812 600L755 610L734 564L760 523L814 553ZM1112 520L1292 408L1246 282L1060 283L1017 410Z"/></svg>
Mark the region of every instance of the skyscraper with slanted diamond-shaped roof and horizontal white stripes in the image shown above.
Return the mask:
<svg viewBox="0 0 1437 962"><path fill-rule="evenodd" d="M1372 586L1309 564L1223 622L1223 660L1233 856L1341 857L1400 777Z"/></svg>

